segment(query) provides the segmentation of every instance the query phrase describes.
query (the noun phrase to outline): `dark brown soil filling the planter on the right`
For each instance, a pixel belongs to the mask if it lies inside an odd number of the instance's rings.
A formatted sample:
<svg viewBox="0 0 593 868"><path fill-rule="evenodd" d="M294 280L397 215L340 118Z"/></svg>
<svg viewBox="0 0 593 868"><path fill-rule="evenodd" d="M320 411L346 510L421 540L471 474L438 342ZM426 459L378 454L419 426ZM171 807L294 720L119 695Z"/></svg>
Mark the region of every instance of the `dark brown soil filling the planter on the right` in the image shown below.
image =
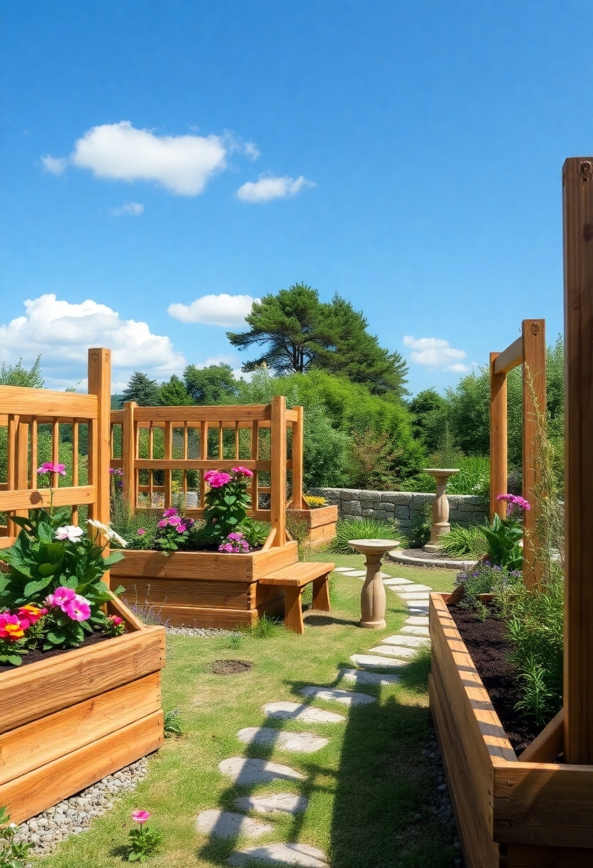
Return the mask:
<svg viewBox="0 0 593 868"><path fill-rule="evenodd" d="M509 662L511 644L505 639L505 625L499 618L489 615L479 621L471 609L450 606L453 621L472 655L472 661L484 682L494 710L514 750L522 750L541 730L535 720L525 720L515 706L521 699L517 684L517 667Z"/></svg>

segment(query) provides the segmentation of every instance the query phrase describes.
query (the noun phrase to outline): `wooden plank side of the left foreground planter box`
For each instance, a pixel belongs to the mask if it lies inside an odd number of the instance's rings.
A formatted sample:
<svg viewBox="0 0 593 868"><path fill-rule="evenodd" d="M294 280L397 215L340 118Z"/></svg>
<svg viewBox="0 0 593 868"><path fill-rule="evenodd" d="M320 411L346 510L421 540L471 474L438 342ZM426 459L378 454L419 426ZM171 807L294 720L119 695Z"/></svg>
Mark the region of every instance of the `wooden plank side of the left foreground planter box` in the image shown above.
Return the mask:
<svg viewBox="0 0 593 868"><path fill-rule="evenodd" d="M0 805L14 823L162 744L165 630L134 621L126 635L0 674Z"/></svg>

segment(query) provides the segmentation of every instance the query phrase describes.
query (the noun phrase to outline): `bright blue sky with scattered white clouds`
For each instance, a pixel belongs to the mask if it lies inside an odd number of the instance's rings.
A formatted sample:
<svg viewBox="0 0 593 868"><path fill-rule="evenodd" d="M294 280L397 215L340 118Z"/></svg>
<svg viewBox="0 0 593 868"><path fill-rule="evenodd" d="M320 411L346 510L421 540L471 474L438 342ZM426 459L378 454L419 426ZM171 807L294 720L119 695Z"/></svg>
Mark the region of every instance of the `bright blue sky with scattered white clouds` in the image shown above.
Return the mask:
<svg viewBox="0 0 593 868"><path fill-rule="evenodd" d="M0 17L0 360L42 352L58 388L84 385L88 345L112 346L116 386L238 367L212 323L297 281L362 309L414 392L521 319L562 330L589 3L0 0Z"/></svg>

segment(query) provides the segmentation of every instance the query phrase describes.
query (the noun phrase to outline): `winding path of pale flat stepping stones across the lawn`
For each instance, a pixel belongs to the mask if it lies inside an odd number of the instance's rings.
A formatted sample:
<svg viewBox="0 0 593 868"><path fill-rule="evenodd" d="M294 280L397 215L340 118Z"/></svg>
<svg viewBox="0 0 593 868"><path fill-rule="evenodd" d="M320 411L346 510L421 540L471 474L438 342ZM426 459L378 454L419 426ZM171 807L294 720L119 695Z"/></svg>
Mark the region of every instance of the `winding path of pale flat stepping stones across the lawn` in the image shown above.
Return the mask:
<svg viewBox="0 0 593 868"><path fill-rule="evenodd" d="M350 567L336 567L336 573L363 578L365 570ZM394 669L407 666L407 660L420 648L430 645L428 632L428 602L432 588L409 579L394 578L381 573L388 590L400 596L407 604L409 615L406 626L392 636L381 639L381 644L369 648L368 654L352 654L350 660L356 668L341 669L339 681L349 681L356 687L365 684L390 687L401 680ZM375 640L376 641L376 640ZM375 672L374 670L384 670ZM335 682L336 683L336 682ZM336 687L307 685L301 687L300 694L310 701L340 702L351 708L362 707L376 702L376 697L355 690ZM265 716L274 720L296 720L299 723L329 724L343 723L343 714L325 711L304 702L280 700L268 702L262 708ZM315 753L329 744L329 738L317 733L298 733L273 727L244 727L237 733L239 741L245 745L262 745L294 753ZM306 780L306 776L290 766L270 762L267 759L249 757L229 757L218 764L221 774L231 778L234 784L250 786L273 780ZM199 832L218 838L257 838L274 832L275 826L248 817L249 812L258 814L296 814L307 810L308 801L296 792L259 792L257 795L240 796L234 806L241 813L210 809L202 811L196 820ZM303 868L329 868L328 857L316 847L299 843L263 844L235 850L228 858L228 865L241 868L250 863L268 865L302 865Z"/></svg>

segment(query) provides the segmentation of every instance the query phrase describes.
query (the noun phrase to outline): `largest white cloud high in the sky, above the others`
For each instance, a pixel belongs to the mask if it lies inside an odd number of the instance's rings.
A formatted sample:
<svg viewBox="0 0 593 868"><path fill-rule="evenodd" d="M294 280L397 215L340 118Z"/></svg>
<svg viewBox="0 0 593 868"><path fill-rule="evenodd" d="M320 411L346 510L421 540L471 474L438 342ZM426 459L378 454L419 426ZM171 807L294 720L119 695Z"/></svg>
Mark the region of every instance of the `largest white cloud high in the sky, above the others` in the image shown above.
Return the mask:
<svg viewBox="0 0 593 868"><path fill-rule="evenodd" d="M68 159L47 155L43 165L61 174L68 163L88 168L97 178L117 181L156 181L172 193L197 196L212 174L225 168L231 144L218 135L154 135L135 129L129 121L93 127ZM250 142L249 155L256 151Z"/></svg>

